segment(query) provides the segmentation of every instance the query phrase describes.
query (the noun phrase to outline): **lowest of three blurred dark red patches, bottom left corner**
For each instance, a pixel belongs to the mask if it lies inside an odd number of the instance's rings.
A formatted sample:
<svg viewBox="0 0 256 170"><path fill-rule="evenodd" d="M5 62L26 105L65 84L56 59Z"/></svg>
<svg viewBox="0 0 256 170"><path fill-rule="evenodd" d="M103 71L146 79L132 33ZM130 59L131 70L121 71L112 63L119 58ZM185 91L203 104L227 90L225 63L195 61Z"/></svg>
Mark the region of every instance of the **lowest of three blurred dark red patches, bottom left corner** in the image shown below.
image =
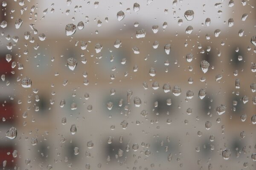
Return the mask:
<svg viewBox="0 0 256 170"><path fill-rule="evenodd" d="M11 146L0 146L0 163L1 166L3 166L3 161L6 160L6 167L14 167L15 166L15 159L12 156L12 152L14 151L14 148ZM7 155L7 153L10 153ZM13 162L12 162L13 160Z"/></svg>

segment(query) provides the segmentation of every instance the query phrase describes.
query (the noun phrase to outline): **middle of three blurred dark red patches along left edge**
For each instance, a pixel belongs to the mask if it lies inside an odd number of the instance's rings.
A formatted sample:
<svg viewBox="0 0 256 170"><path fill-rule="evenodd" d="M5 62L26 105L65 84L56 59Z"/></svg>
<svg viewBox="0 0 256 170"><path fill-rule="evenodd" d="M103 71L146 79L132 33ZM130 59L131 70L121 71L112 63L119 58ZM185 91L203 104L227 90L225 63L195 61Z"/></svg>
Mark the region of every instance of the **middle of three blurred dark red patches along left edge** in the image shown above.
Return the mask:
<svg viewBox="0 0 256 170"><path fill-rule="evenodd" d="M4 104L4 106L3 106ZM14 119L14 105L13 102L0 102L0 121L1 123L3 120L3 117L6 119L5 122L10 123L13 122Z"/></svg>

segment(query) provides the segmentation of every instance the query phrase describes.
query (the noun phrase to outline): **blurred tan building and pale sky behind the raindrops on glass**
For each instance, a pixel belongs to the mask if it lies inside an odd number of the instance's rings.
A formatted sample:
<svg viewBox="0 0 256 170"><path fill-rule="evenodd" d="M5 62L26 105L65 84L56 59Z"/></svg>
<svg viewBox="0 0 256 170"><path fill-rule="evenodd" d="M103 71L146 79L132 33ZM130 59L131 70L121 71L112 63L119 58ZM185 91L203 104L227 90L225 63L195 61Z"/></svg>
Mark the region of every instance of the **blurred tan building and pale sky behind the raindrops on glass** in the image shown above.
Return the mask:
<svg viewBox="0 0 256 170"><path fill-rule="evenodd" d="M229 7L228 0L178 0L177 6L169 0L99 1L98 6L84 0L72 0L70 6L59 0L6 2L7 6L1 7L1 22L8 24L1 28L0 46L0 74L5 75L0 91L0 161L6 160L5 169L50 169L49 165L52 169L88 169L88 164L90 169L104 170L197 170L208 169L209 164L212 169L255 169L251 155L256 152L256 127L251 117L256 110L252 102L255 94L250 89L250 84L256 82L255 73L250 70L256 62L256 50L250 42L255 35L255 1L247 0L243 6L241 0L234 0L233 7ZM134 3L140 4L140 11L134 12ZM195 12L192 21L184 17L189 9ZM125 18L118 21L116 14L121 10ZM248 14L245 21L241 20L243 14ZM207 17L211 19L209 27L205 25ZM15 28L17 18L23 20L19 29ZM234 20L232 27L228 26L230 18ZM178 26L180 19L183 24ZM66 36L65 26L77 26L80 21L84 28ZM134 27L135 22L138 27ZM35 24L37 34L29 24ZM156 34L152 31L154 25L159 26ZM193 27L191 34L186 34L188 26ZM141 28L146 36L137 39L136 31ZM219 37L215 37L216 29L221 30ZM241 29L244 34L239 37ZM29 40L24 38L26 31L30 32ZM46 40L40 41L38 35L43 33ZM11 40L6 39L8 35ZM14 36L19 37L18 42L12 40ZM114 47L117 39L122 41L119 48ZM81 49L81 41L87 43L85 50ZM156 49L152 46L155 41L159 42ZM6 48L7 42L12 42L12 50ZM97 43L103 47L100 53L95 51ZM166 54L165 44L171 45L170 54ZM135 46L140 54L134 54ZM186 61L189 53L194 55L192 62ZM12 55L11 62L6 61L6 54ZM78 61L74 71L67 66L70 57ZM210 64L206 74L200 68L202 60ZM17 63L15 68L11 67L12 62ZM23 69L18 69L18 64ZM155 77L149 75L150 68L155 69ZM85 72L87 77L83 76ZM222 78L216 81L219 74ZM18 81L26 76L32 80L31 88L23 88ZM193 79L192 84L189 78ZM85 79L88 85L84 85ZM240 81L239 89L236 79ZM143 88L143 82L148 89ZM158 82L160 88L154 90L153 82ZM163 91L166 83L171 86L169 93ZM172 94L175 85L181 88L180 96ZM198 96L202 88L207 92L204 99ZM114 95L111 89L115 90ZM128 89L133 92L130 104ZM189 90L194 92L192 99L186 99ZM86 93L89 99L85 99ZM136 96L142 101L140 107L134 106ZM245 104L244 96L249 99ZM64 107L60 107L62 99ZM166 104L167 99L171 99L171 105ZM113 103L111 110L108 102ZM75 110L71 109L73 103ZM216 108L221 104L227 109L218 115ZM188 108L192 108L191 115L186 113ZM148 113L146 117L140 114L143 110ZM241 122L243 114L247 119ZM61 123L63 118L67 120L65 125ZM126 129L120 126L124 120L128 122ZM210 130L205 128L206 121L212 123ZM70 133L73 124L77 129L74 135ZM17 128L17 137L10 140L5 133L12 126ZM245 138L241 138L242 131ZM212 142L211 135L215 136ZM37 144L32 145L35 139ZM93 148L87 147L90 141ZM135 143L139 145L137 151L132 147ZM79 148L77 155L75 147ZM228 160L222 158L226 148L231 151ZM118 156L119 149L122 156ZM16 158L12 155L14 150ZM145 154L147 150L149 156Z"/></svg>

